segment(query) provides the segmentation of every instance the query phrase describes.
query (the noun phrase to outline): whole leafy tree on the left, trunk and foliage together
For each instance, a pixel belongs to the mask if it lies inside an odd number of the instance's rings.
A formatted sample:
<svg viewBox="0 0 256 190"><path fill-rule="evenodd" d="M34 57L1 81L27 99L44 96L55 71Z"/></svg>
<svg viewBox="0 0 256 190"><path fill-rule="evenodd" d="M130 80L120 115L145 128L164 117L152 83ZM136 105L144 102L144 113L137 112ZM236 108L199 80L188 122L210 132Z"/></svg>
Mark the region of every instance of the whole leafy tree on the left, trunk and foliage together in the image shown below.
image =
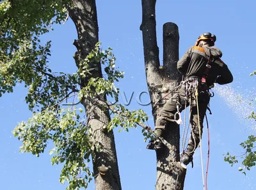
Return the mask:
<svg viewBox="0 0 256 190"><path fill-rule="evenodd" d="M13 86L22 82L29 86L26 102L33 111L33 117L14 131L23 142L21 150L39 156L52 140L52 164L64 163L60 182L66 180L68 189L86 187L92 180L87 166L90 156L96 189L121 189L113 131L107 129L109 111L97 105L97 100L106 101L106 86L109 94L115 93L113 82L122 73L115 71L115 57L109 50L99 52L95 1L2 1L0 12L0 94L12 92ZM40 35L67 19L67 14L78 36L74 41L78 71L74 75L52 73L47 66L51 41L40 45ZM102 78L101 63L108 64L106 79ZM75 106L61 108L61 103L77 92L86 120Z"/></svg>

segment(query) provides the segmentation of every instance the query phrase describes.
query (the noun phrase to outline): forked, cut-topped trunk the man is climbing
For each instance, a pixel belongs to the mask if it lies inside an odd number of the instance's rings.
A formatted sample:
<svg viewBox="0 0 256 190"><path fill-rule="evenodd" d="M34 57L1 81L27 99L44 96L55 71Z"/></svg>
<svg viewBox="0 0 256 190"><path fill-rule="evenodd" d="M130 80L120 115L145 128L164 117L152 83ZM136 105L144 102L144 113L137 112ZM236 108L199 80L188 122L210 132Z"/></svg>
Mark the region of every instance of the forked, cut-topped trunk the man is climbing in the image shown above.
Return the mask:
<svg viewBox="0 0 256 190"><path fill-rule="evenodd" d="M170 94L161 103L163 98L180 81L177 71L179 60L179 31L176 24L168 22L164 24L164 63L159 68L159 49L156 39L156 0L142 0L142 23L143 47L145 59L145 72L150 98L152 101L152 113L156 121L157 113L163 107L164 101L172 96ZM156 106L157 104L157 106ZM157 150L157 181L156 189L183 189L186 169L180 166L179 125L167 126L166 140L172 146L172 150Z"/></svg>

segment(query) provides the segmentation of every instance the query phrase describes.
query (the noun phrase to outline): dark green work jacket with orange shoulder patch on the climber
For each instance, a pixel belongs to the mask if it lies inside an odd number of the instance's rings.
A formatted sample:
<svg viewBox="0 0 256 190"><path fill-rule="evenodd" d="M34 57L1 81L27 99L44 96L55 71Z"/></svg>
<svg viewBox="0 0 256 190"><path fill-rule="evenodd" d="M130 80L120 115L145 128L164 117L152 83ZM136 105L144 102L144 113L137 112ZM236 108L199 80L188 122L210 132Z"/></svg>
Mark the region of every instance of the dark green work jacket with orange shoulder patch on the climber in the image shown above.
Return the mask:
<svg viewBox="0 0 256 190"><path fill-rule="evenodd" d="M218 84L228 84L233 81L233 76L228 69L227 64L221 61L221 50L216 47L190 47L187 52L177 62L177 69L186 77L202 78L205 71L205 65L208 58L212 57L214 62L206 78L206 84L212 85L214 82Z"/></svg>

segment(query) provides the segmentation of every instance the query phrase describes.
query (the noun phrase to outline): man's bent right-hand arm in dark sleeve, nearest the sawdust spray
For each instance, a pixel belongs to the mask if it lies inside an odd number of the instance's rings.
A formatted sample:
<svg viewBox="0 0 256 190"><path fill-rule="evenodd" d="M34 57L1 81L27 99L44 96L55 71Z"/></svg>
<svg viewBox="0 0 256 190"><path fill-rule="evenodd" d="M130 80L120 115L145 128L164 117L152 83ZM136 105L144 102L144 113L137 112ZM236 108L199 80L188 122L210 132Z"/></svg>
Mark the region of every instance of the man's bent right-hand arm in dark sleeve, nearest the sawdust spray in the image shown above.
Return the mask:
<svg viewBox="0 0 256 190"><path fill-rule="evenodd" d="M233 81L233 75L228 69L227 64L225 64L221 59L218 59L217 62L220 62L222 64L221 67L221 74L216 78L216 83L218 84L228 84Z"/></svg>

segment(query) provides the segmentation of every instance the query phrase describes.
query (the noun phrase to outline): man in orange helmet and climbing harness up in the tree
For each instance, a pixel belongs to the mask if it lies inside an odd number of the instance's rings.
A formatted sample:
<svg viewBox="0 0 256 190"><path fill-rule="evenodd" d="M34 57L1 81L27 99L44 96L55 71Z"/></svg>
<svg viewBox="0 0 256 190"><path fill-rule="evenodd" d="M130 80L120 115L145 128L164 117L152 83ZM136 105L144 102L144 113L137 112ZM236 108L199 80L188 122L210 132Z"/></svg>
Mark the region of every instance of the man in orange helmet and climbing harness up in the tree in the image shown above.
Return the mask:
<svg viewBox="0 0 256 190"><path fill-rule="evenodd" d="M223 85L233 81L227 64L220 59L220 49L213 47L215 41L215 35L202 34L196 40L195 46L190 47L178 61L177 69L182 73L184 80L177 92L164 104L156 120L156 132L166 138L166 128L172 127L173 122L181 124L180 112L190 105L191 136L181 158L182 163L186 165L193 160L195 149L200 137L202 138L204 116L211 97L209 89L214 86L214 82ZM163 143L157 139L150 141L147 149L157 150L163 147Z"/></svg>

